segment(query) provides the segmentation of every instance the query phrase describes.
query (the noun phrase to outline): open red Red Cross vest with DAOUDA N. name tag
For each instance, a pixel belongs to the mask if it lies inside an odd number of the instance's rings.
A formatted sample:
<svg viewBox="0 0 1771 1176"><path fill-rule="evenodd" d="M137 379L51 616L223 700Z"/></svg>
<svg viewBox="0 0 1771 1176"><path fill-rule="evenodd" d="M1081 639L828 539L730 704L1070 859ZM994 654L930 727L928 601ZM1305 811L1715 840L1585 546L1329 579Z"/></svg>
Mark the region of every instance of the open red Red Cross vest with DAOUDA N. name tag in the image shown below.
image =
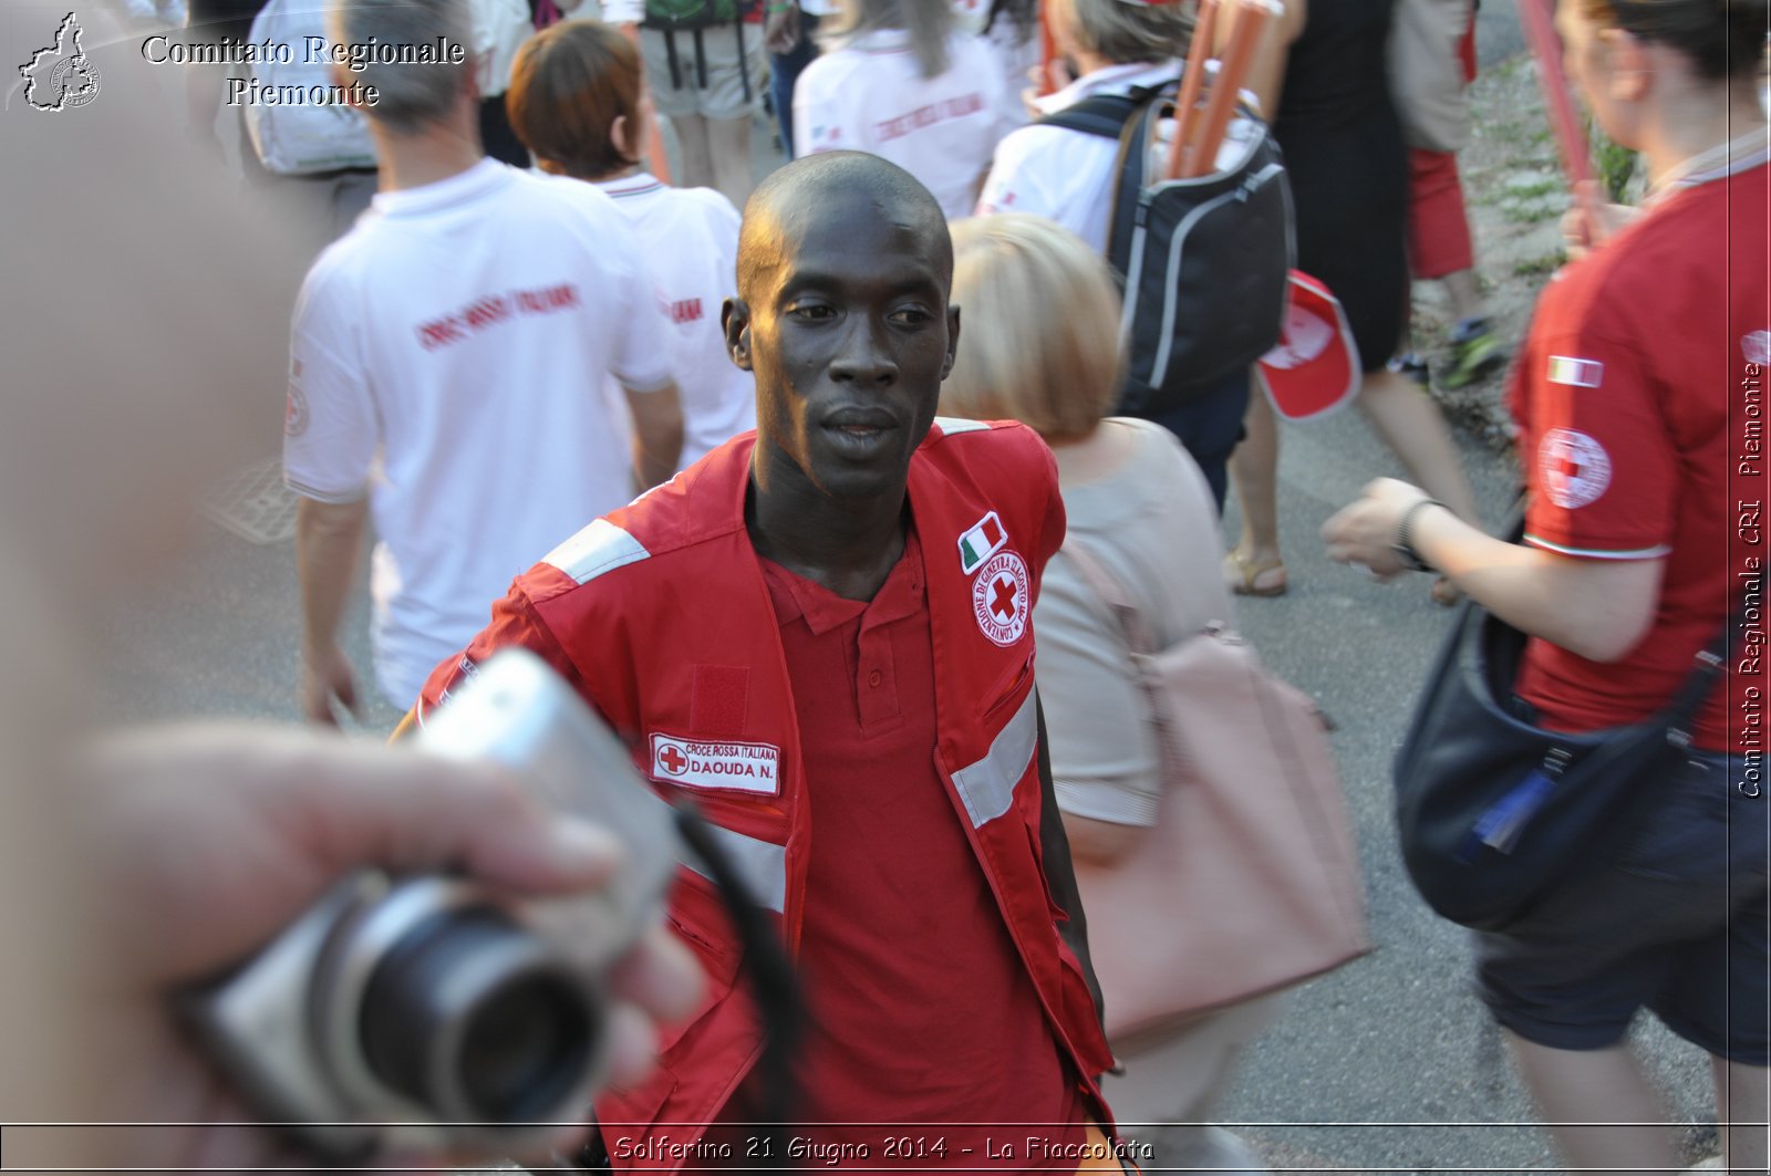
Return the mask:
<svg viewBox="0 0 1771 1176"><path fill-rule="evenodd" d="M779 625L744 528L753 446L746 434L714 450L521 576L464 657L430 675L418 710L496 648L535 650L609 721L645 776L694 793L795 953L811 834ZM910 462L909 496L928 583L940 779L1052 1033L1105 1116L1096 1079L1112 1056L1041 863L1029 618L1064 535L1056 464L1022 425L942 418ZM1073 893L1070 863L1052 870L1066 882L1059 893ZM599 1119L636 1142L655 1123L673 1125L657 1128L673 1144L692 1142L682 1125L712 1119L762 1047L751 1002L730 999L739 949L726 917L689 863L669 921L707 971L708 995L664 1033L646 1082L597 1102Z"/></svg>

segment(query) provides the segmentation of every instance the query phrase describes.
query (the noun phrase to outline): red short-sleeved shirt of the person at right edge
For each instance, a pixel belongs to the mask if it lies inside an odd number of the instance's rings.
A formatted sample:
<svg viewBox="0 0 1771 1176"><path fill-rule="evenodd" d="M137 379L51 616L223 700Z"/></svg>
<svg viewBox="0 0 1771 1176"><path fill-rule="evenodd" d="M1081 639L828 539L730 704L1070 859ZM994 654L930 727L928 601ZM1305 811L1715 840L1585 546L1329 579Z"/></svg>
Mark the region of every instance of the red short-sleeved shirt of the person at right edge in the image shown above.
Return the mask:
<svg viewBox="0 0 1771 1176"><path fill-rule="evenodd" d="M1537 301L1512 374L1532 489L1525 542L1576 560L1667 560L1654 623L1624 659L1530 643L1518 691L1550 728L1638 723L1665 705L1771 554L1767 193L1760 131L1732 159L1691 166ZM1762 634L1741 634L1732 716L1716 691L1700 747L1743 746L1730 724L1739 735L1744 692L1766 687Z"/></svg>

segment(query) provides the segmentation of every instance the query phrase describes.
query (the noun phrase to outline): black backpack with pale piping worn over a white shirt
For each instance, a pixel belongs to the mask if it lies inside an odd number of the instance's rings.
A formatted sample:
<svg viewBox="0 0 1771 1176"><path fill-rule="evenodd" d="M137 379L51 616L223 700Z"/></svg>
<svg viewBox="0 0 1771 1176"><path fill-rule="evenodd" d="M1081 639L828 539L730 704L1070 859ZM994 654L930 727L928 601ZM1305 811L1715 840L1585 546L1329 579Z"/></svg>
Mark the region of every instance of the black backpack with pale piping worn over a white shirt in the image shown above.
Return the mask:
<svg viewBox="0 0 1771 1176"><path fill-rule="evenodd" d="M1146 182L1156 120L1171 113L1176 85L1094 94L1040 119L1119 142L1107 262L1125 290L1119 411L1137 416L1187 404L1279 342L1296 255L1279 143L1247 110L1257 142L1241 166Z"/></svg>

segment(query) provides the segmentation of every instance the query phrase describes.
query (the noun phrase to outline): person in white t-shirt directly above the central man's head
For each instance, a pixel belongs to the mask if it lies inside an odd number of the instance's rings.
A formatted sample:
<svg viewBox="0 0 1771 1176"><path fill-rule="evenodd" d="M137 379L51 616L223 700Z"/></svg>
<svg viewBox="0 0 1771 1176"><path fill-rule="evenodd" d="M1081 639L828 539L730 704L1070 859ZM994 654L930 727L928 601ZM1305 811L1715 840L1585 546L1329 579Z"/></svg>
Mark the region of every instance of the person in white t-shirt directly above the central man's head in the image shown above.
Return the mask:
<svg viewBox="0 0 1771 1176"><path fill-rule="evenodd" d="M1015 101L992 48L956 28L947 0L850 0L793 89L793 145L891 159L962 220L1015 126Z"/></svg>

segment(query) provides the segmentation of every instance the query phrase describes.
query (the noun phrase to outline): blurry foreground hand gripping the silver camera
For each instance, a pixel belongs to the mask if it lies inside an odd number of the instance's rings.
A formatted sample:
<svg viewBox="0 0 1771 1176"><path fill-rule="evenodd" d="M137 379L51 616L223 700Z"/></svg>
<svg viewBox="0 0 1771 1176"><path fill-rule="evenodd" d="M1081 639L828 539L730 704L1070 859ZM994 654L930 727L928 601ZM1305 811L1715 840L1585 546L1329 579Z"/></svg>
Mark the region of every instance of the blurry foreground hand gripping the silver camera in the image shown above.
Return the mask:
<svg viewBox="0 0 1771 1176"><path fill-rule="evenodd" d="M508 894L604 884L620 847L544 808L515 776L404 747L267 726L182 726L106 739L81 765L94 868L115 896L115 963L94 994L119 1089L108 1119L174 1123L128 1133L131 1167L306 1165L259 1126L182 1036L174 994L269 942L342 875L453 868ZM613 1079L652 1064L653 1020L700 999L700 971L662 928L613 976ZM106 1135L106 1133L101 1133ZM583 1128L547 1141L570 1148ZM469 1157L400 1157L450 1164Z"/></svg>

